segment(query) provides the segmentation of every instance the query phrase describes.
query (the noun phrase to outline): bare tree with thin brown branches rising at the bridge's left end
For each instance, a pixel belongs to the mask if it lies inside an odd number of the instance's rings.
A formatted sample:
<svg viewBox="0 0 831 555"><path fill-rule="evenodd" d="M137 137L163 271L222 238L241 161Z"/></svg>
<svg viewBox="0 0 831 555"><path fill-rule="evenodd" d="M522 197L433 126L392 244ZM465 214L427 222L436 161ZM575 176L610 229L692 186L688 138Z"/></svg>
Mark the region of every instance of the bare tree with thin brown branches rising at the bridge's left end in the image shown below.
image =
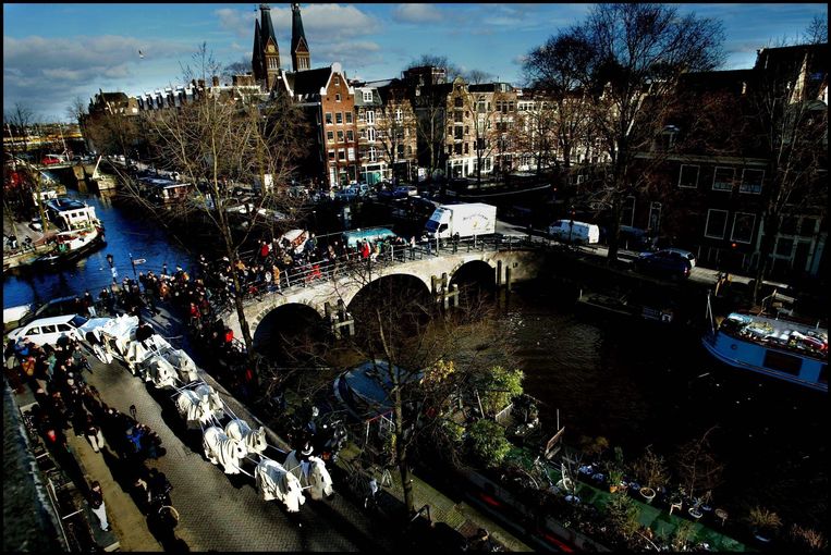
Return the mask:
<svg viewBox="0 0 831 555"><path fill-rule="evenodd" d="M216 75L218 65L203 44L193 57L194 65L183 67L186 78L205 79ZM206 81L203 81L206 82ZM203 89L199 98L176 109L155 111L146 121L148 140L156 159L169 170L179 172L182 180L197 186L205 195L171 207L159 214L164 219L198 214L200 221L219 234L219 245L229 260L241 256L242 247L255 231L264 226L272 233L296 226L288 218L300 218L297 202L284 194L294 170L294 160L302 144L297 137L301 118L297 108L286 98L277 98L260 107L246 99L220 96ZM267 186L266 175L271 177ZM250 185L259 178L261 189L241 209L232 194L235 185ZM142 202L137 183L130 182L127 194ZM234 233L231 210L239 210L245 221L241 233ZM280 218L282 215L282 218ZM245 317L242 280L231 264L234 308L249 358L254 358L253 341Z"/></svg>

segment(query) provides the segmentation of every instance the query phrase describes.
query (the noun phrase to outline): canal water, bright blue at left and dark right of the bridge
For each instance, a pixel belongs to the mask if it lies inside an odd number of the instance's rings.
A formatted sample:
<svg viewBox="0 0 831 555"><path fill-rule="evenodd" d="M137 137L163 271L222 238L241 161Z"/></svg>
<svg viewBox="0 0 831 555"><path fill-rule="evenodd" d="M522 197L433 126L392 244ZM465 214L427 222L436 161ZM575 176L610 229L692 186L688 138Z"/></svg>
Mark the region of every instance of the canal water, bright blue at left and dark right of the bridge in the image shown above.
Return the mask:
<svg viewBox="0 0 831 555"><path fill-rule="evenodd" d="M108 246L72 271L4 275L4 307L86 288L97 294L111 283L107 254L119 281L133 275L130 254L146 260L137 271L191 266L191 255L146 218L86 200L106 225ZM577 317L545 283L516 287L492 325L511 337L525 391L545 403L549 429L560 410L567 443L602 435L627 460L652 444L671 461L680 445L717 427L711 446L725 471L716 506L741 519L761 505L786 525L827 532L827 395L722 367L696 333Z"/></svg>

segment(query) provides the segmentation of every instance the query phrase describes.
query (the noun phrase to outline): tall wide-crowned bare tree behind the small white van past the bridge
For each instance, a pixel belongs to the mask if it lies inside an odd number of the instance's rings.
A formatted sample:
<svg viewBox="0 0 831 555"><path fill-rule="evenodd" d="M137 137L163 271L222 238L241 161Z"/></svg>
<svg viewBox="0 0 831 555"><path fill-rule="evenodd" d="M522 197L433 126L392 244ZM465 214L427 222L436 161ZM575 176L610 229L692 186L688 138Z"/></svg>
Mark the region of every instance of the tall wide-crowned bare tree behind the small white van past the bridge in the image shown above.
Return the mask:
<svg viewBox="0 0 831 555"><path fill-rule="evenodd" d="M567 52L581 60L576 75L563 64L541 77L559 76L563 86L579 83L590 103L591 135L610 160L598 180L610 207L609 259L616 260L620 225L627 196L644 187L636 156L648 151L675 99L679 76L717 67L722 59L721 24L682 15L667 4L598 4L587 21L565 37ZM554 39L552 46L557 45ZM543 49L545 50L545 49ZM563 78L565 77L565 78ZM648 99L648 101L647 101Z"/></svg>

